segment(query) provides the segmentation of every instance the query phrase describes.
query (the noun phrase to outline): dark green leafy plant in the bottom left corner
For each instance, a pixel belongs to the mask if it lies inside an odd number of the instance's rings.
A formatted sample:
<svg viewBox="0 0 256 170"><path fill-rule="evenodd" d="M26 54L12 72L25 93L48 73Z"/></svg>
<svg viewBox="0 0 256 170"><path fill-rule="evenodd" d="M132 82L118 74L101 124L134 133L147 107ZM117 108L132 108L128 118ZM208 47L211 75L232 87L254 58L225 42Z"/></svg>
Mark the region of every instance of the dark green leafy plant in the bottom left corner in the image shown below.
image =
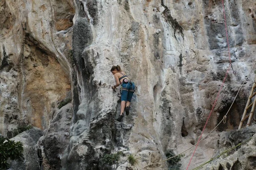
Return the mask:
<svg viewBox="0 0 256 170"><path fill-rule="evenodd" d="M0 136L0 170L9 168L8 159L15 160L21 158L23 158L22 143Z"/></svg>

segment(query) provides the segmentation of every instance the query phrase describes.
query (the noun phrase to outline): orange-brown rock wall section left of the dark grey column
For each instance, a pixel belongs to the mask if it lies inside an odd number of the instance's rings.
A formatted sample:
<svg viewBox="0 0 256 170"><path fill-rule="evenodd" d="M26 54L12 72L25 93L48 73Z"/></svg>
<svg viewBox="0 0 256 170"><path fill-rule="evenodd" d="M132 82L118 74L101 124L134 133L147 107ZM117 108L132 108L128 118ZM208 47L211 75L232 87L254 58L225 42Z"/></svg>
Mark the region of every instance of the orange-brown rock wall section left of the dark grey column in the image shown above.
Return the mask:
<svg viewBox="0 0 256 170"><path fill-rule="evenodd" d="M71 89L73 3L1 0L0 12L0 132L19 124L45 129Z"/></svg>

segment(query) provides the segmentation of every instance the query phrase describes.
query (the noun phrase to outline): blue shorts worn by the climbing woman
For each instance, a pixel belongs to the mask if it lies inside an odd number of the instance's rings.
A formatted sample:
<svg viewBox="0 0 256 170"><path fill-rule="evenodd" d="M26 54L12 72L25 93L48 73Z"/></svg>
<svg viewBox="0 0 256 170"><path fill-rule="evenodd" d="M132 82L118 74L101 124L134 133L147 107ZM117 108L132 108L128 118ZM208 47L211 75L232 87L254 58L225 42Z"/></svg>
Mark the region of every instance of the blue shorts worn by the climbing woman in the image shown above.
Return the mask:
<svg viewBox="0 0 256 170"><path fill-rule="evenodd" d="M132 85L130 84L130 82L128 83L122 83L122 93L121 93L121 102L122 101L128 101L131 102L131 98L134 94L134 90L135 90L135 84L132 83Z"/></svg>

